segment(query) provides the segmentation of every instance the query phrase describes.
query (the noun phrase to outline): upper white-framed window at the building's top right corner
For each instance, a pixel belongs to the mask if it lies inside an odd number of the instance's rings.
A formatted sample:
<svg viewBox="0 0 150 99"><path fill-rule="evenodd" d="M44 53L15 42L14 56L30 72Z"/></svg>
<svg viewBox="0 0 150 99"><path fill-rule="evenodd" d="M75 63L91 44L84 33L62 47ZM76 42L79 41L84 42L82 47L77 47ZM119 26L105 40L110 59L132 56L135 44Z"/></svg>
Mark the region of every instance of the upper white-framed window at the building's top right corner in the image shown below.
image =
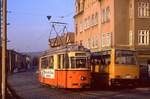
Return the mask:
<svg viewBox="0 0 150 99"><path fill-rule="evenodd" d="M150 3L138 2L138 17L139 18L150 17Z"/></svg>

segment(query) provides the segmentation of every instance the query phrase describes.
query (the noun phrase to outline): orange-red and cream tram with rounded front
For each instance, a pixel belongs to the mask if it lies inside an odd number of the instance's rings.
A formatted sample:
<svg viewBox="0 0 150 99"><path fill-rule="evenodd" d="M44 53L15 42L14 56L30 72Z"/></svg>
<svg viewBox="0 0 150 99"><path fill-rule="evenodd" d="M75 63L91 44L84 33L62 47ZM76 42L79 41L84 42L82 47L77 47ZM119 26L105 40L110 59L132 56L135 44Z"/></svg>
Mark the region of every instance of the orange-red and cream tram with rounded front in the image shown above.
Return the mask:
<svg viewBox="0 0 150 99"><path fill-rule="evenodd" d="M55 48L39 59L39 81L57 88L89 88L89 50L81 46Z"/></svg>

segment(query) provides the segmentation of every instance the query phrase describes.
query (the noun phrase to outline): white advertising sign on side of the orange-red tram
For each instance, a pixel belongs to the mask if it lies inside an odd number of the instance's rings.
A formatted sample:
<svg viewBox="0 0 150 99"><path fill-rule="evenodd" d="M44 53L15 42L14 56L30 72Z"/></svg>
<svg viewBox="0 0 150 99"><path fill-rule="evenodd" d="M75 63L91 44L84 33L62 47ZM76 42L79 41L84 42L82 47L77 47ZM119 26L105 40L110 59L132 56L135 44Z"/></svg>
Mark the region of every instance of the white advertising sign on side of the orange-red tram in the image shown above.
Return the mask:
<svg viewBox="0 0 150 99"><path fill-rule="evenodd" d="M41 71L41 75L44 78L51 78L54 79L55 78L55 71L51 70L51 69L46 69L46 70L42 70Z"/></svg>

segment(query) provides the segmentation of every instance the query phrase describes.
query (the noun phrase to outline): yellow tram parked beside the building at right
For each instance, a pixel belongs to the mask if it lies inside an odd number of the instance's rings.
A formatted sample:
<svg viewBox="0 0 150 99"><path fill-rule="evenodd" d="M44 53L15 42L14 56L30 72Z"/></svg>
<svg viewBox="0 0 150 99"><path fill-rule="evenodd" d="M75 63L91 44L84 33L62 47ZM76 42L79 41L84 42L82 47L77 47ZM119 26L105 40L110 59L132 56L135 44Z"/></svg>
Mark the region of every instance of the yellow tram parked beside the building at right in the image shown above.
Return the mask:
<svg viewBox="0 0 150 99"><path fill-rule="evenodd" d="M91 56L92 86L136 84L139 66L132 50L111 49Z"/></svg>

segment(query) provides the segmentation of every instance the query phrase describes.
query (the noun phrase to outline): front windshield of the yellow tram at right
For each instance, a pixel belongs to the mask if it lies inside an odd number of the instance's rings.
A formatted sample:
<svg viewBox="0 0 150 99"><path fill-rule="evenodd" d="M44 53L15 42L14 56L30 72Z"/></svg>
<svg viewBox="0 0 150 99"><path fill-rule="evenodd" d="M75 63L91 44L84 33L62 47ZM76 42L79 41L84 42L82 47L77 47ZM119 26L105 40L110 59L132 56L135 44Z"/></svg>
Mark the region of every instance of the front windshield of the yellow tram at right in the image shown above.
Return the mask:
<svg viewBox="0 0 150 99"><path fill-rule="evenodd" d="M134 51L116 50L115 63L125 65L136 65L136 55Z"/></svg>

